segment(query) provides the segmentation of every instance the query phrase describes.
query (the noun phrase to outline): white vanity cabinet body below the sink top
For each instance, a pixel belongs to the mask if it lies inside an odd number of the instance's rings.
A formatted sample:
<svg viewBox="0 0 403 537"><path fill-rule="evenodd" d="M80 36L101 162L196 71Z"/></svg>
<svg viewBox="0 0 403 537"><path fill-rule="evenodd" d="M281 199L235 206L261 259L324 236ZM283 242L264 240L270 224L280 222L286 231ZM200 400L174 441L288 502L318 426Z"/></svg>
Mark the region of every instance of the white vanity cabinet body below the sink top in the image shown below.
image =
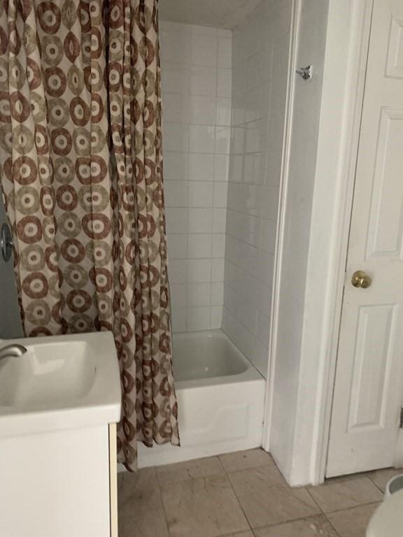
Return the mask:
<svg viewBox="0 0 403 537"><path fill-rule="evenodd" d="M0 439L1 537L118 537L115 424Z"/></svg>

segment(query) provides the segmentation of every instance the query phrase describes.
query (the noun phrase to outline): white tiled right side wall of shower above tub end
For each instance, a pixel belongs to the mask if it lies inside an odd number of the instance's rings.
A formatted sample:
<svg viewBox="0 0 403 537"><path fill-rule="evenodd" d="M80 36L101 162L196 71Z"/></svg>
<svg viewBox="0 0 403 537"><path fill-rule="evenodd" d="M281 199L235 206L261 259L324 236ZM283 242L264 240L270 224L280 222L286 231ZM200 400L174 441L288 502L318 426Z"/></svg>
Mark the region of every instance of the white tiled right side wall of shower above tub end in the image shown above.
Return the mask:
<svg viewBox="0 0 403 537"><path fill-rule="evenodd" d="M267 375L291 0L264 0L232 36L222 329Z"/></svg>

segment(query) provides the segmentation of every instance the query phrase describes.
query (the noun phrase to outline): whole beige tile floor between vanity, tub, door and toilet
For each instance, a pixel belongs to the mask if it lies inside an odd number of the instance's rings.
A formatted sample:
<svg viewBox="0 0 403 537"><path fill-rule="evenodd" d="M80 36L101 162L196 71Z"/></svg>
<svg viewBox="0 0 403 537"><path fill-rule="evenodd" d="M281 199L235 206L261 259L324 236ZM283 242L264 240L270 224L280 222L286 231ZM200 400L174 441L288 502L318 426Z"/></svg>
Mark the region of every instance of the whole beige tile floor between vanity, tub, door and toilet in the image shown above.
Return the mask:
<svg viewBox="0 0 403 537"><path fill-rule="evenodd" d="M365 537L393 469L291 488L263 450L118 476L119 537Z"/></svg>

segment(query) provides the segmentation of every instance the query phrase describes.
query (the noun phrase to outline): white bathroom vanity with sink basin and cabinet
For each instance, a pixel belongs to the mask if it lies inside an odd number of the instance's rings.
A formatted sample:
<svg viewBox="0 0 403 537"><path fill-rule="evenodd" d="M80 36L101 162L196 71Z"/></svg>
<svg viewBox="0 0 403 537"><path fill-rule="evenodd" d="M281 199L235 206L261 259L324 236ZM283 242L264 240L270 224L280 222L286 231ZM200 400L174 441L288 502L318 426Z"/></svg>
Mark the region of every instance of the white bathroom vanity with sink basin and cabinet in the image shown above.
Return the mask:
<svg viewBox="0 0 403 537"><path fill-rule="evenodd" d="M112 334L0 341L0 536L117 537Z"/></svg>

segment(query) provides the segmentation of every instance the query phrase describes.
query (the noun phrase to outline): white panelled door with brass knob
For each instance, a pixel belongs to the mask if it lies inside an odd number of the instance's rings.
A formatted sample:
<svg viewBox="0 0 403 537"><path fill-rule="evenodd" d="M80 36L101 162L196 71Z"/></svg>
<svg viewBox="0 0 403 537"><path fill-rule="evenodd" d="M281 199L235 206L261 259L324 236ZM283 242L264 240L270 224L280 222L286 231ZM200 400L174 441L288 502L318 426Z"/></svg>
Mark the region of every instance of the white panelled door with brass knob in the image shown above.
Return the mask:
<svg viewBox="0 0 403 537"><path fill-rule="evenodd" d="M395 464L402 394L403 1L374 0L327 477Z"/></svg>

